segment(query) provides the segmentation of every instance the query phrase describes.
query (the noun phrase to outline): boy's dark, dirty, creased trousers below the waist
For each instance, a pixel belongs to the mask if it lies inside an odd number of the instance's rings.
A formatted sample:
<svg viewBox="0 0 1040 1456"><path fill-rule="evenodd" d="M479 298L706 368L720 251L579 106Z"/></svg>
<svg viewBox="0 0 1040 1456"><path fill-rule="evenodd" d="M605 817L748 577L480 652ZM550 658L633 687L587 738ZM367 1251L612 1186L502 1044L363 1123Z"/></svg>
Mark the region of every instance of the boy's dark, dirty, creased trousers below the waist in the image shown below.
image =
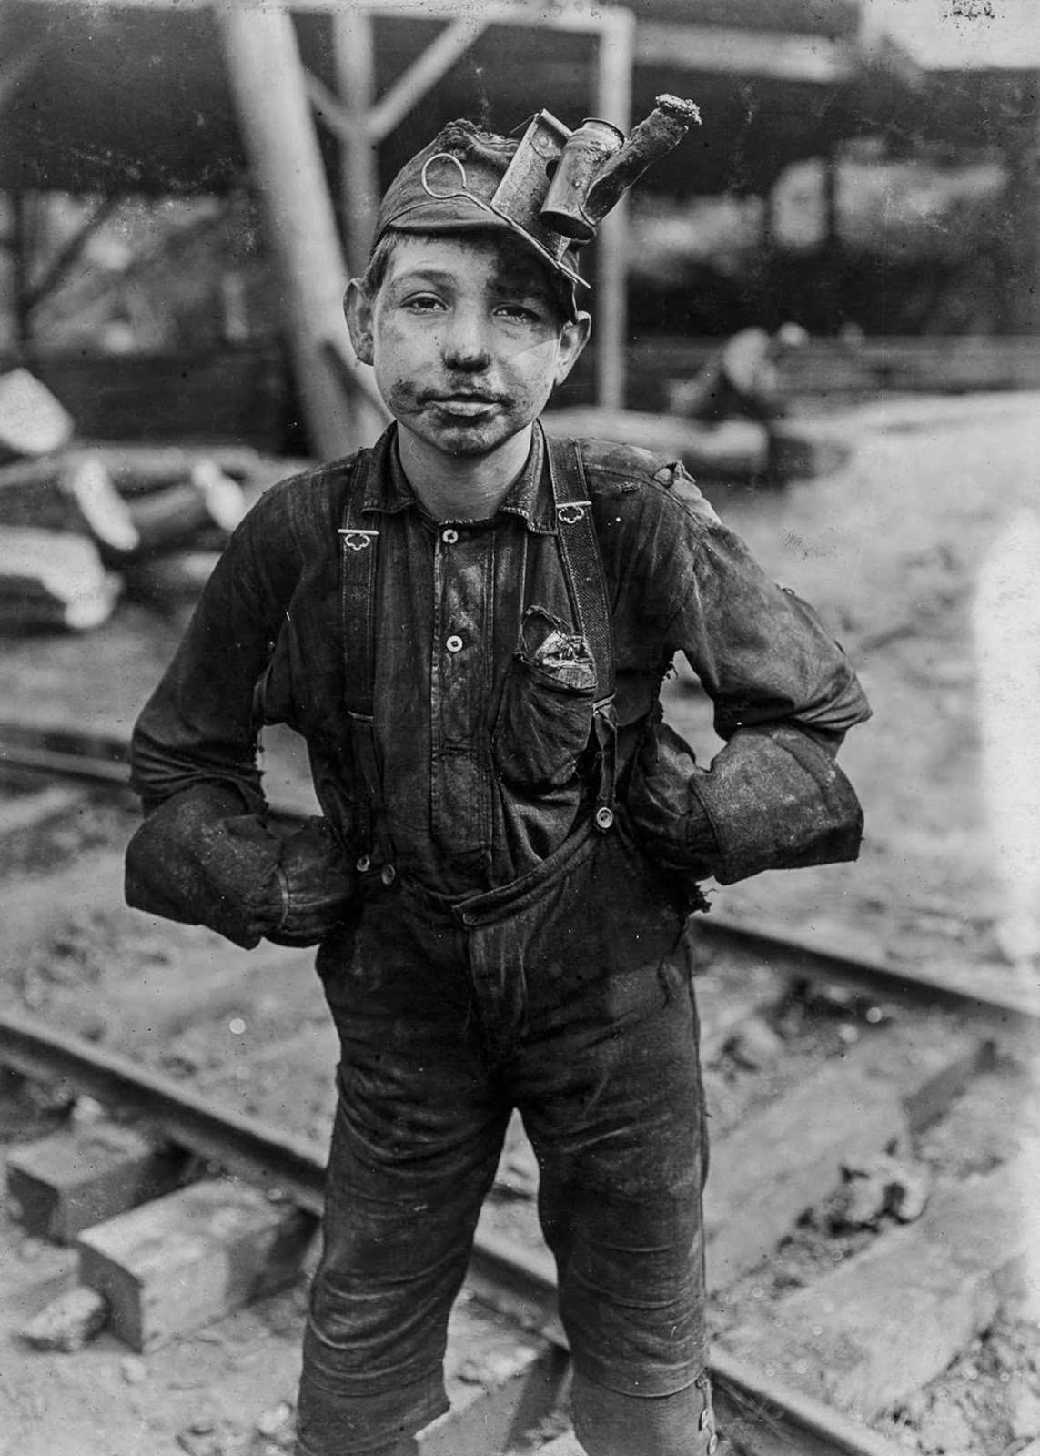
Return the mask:
<svg viewBox="0 0 1040 1456"><path fill-rule="evenodd" d="M539 1163L575 1380L704 1379L706 1172L685 910L623 821L447 906L369 901L319 974L341 1038L306 1456L387 1449L447 1408L452 1303L513 1108Z"/></svg>

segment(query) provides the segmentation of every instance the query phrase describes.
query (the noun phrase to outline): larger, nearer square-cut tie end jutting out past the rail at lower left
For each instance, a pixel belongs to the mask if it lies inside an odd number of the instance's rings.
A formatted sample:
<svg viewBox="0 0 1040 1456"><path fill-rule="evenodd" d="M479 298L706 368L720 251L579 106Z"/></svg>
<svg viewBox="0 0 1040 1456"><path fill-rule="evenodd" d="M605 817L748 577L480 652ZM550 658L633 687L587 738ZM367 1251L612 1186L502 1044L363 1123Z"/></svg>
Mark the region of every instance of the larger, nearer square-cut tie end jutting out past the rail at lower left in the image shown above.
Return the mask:
<svg viewBox="0 0 1040 1456"><path fill-rule="evenodd" d="M121 1340L153 1350L288 1284L315 1229L256 1188L207 1179L82 1233L80 1283L108 1299Z"/></svg>

